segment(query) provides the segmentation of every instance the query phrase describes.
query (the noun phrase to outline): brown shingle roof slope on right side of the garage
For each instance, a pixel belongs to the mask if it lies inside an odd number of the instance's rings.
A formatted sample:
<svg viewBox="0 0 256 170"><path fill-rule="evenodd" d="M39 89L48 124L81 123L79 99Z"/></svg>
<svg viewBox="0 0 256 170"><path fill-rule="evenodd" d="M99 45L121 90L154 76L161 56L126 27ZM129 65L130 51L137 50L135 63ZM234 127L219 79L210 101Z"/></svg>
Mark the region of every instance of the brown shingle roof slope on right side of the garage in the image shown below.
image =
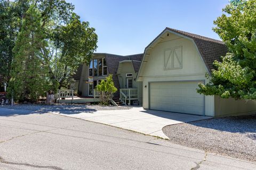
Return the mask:
<svg viewBox="0 0 256 170"><path fill-rule="evenodd" d="M205 65L209 71L213 69L213 62L215 60L220 61L220 57L225 56L228 52L227 46L220 40L199 36L194 33L175 30L172 28L166 28L165 30L170 30L180 35L192 38L195 41L199 53L203 57Z"/></svg>

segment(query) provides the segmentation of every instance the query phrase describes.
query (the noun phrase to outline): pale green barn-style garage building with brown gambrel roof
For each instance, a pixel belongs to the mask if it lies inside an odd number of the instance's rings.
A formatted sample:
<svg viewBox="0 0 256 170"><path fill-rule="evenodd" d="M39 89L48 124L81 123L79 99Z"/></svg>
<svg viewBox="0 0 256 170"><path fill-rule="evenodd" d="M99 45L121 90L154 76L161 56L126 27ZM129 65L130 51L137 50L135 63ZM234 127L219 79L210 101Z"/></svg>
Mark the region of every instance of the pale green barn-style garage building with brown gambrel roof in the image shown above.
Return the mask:
<svg viewBox="0 0 256 170"><path fill-rule="evenodd" d="M222 41L166 28L146 48L137 75L143 82L143 108L206 116L247 114L255 101L197 94L213 61L225 56Z"/></svg>

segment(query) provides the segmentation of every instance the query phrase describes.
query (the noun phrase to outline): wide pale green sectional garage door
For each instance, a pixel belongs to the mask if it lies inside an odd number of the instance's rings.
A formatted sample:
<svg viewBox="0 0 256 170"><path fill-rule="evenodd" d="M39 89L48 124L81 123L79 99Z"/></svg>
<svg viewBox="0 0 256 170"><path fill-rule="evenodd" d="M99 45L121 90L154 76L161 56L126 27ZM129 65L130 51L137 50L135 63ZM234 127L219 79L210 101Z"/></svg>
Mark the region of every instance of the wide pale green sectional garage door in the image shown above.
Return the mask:
<svg viewBox="0 0 256 170"><path fill-rule="evenodd" d="M149 108L158 111L204 115L204 96L196 92L198 83L200 82L149 83Z"/></svg>

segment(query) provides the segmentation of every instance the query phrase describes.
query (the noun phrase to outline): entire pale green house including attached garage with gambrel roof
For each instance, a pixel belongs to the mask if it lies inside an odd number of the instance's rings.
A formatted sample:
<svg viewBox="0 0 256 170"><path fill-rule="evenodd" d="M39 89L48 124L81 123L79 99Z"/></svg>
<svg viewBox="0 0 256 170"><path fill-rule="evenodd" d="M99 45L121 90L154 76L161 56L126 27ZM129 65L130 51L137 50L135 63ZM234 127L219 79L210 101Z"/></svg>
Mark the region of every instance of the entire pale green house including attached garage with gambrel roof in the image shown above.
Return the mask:
<svg viewBox="0 0 256 170"><path fill-rule="evenodd" d="M225 56L222 41L165 28L143 54L120 56L95 53L90 65L83 64L75 75L82 96L95 94L95 86L111 73L124 104L145 109L205 116L241 115L256 111L255 101L221 99L196 92L207 83L213 62Z"/></svg>

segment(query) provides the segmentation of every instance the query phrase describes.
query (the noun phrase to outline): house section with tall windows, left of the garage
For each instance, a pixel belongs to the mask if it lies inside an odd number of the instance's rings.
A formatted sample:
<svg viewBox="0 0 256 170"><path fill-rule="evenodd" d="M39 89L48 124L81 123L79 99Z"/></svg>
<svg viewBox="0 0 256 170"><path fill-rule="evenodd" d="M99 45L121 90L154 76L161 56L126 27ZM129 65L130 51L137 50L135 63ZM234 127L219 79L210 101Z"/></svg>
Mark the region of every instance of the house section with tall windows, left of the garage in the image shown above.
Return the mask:
<svg viewBox="0 0 256 170"><path fill-rule="evenodd" d="M115 98L120 98L124 104L142 104L142 82L136 77L143 54L121 56L107 53L94 53L89 65L82 64L74 75L75 89L83 97L93 97L95 87L100 81L113 74L117 92Z"/></svg>

